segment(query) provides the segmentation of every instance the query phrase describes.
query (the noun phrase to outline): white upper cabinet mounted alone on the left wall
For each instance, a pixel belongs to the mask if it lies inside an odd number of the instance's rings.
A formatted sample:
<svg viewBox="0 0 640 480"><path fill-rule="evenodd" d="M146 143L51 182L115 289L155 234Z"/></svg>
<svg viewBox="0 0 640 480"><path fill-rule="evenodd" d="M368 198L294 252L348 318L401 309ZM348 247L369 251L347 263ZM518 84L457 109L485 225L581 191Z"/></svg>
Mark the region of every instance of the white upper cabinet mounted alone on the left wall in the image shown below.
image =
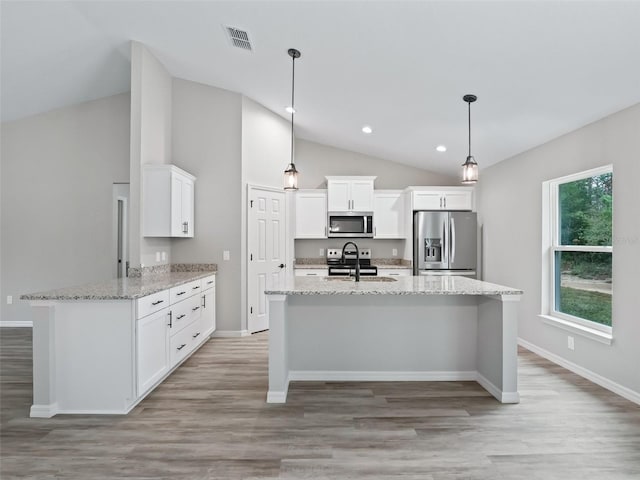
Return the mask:
<svg viewBox="0 0 640 480"><path fill-rule="evenodd" d="M142 235L193 237L196 177L175 165L144 165Z"/></svg>

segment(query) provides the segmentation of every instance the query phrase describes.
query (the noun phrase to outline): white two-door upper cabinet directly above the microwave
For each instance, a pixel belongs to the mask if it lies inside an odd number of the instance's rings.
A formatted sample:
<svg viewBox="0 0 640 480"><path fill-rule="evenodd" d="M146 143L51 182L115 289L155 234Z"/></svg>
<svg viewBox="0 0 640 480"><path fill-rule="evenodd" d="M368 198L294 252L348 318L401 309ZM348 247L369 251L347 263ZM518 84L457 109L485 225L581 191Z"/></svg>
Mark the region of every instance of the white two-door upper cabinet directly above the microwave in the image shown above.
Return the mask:
<svg viewBox="0 0 640 480"><path fill-rule="evenodd" d="M376 177L326 177L329 212L372 212Z"/></svg>

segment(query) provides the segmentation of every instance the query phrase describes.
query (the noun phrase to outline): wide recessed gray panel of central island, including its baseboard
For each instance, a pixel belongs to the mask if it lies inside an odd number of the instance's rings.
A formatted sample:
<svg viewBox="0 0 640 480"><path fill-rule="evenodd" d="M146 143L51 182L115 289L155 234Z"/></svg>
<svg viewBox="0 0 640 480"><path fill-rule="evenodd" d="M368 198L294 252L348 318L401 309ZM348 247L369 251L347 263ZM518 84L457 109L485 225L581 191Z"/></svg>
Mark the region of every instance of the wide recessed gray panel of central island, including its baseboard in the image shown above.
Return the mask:
<svg viewBox="0 0 640 480"><path fill-rule="evenodd" d="M477 297L292 295L291 380L475 380Z"/></svg>

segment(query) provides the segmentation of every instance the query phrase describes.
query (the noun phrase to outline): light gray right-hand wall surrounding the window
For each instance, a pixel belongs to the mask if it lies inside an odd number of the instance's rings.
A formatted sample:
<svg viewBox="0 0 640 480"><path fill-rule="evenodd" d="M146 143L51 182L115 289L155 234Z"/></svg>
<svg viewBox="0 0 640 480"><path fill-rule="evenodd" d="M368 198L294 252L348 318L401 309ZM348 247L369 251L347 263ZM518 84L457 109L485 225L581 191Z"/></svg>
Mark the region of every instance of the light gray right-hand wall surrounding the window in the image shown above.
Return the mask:
<svg viewBox="0 0 640 480"><path fill-rule="evenodd" d="M484 279L525 292L519 335L535 347L604 377L640 399L640 104L480 172L478 210L484 231ZM613 164L613 343L542 323L542 182ZM627 392L629 393L629 392ZM633 396L631 393L630 396ZM629 396L629 395L628 395Z"/></svg>

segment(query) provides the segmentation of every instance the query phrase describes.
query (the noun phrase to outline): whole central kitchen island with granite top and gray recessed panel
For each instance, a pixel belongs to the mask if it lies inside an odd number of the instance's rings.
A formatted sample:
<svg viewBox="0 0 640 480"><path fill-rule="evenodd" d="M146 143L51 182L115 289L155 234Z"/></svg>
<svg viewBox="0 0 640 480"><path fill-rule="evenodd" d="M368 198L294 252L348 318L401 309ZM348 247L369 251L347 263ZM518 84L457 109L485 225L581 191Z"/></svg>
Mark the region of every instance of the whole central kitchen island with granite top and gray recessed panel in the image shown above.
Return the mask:
<svg viewBox="0 0 640 480"><path fill-rule="evenodd" d="M477 381L518 403L521 290L461 276L295 277L267 290L269 391L289 382Z"/></svg>

